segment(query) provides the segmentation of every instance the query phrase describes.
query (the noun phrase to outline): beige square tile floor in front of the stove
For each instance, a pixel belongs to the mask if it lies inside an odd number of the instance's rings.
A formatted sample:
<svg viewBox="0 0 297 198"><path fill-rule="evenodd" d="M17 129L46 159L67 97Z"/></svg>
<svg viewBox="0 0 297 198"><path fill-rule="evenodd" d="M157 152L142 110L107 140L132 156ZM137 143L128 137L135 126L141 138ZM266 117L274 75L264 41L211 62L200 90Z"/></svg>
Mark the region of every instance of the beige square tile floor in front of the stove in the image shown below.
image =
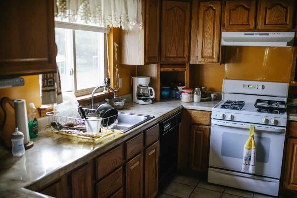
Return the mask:
<svg viewBox="0 0 297 198"><path fill-rule="evenodd" d="M177 174L157 198L276 198ZM278 196L277 198L284 198Z"/></svg>

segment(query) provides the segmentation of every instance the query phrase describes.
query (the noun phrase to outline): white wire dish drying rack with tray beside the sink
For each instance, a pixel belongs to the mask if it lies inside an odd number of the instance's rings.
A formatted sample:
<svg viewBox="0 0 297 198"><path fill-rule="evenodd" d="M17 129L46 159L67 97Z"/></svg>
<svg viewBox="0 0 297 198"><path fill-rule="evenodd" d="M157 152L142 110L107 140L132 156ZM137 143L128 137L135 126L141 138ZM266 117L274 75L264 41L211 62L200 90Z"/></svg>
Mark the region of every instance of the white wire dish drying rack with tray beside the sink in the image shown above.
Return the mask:
<svg viewBox="0 0 297 198"><path fill-rule="evenodd" d="M96 110L82 108L87 115L88 113L95 113ZM80 116L82 114L78 111ZM117 115L102 118L101 123L110 123L110 119L113 120L112 124L103 124L100 126L99 132L91 134L86 131L84 118L73 118L67 116L61 116L58 111L47 112L49 125L45 128L48 133L53 133L59 137L74 139L78 141L88 141L98 144L99 142L113 136L115 133L120 133L121 129L116 129Z"/></svg>

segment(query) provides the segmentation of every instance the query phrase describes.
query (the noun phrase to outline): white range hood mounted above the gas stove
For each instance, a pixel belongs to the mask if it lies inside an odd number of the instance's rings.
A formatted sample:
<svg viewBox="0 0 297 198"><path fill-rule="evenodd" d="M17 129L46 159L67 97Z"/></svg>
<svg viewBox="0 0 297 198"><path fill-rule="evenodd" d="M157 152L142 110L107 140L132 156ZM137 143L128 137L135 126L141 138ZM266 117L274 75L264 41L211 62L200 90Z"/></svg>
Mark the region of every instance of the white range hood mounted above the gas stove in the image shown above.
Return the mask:
<svg viewBox="0 0 297 198"><path fill-rule="evenodd" d="M293 46L295 32L222 32L222 45Z"/></svg>

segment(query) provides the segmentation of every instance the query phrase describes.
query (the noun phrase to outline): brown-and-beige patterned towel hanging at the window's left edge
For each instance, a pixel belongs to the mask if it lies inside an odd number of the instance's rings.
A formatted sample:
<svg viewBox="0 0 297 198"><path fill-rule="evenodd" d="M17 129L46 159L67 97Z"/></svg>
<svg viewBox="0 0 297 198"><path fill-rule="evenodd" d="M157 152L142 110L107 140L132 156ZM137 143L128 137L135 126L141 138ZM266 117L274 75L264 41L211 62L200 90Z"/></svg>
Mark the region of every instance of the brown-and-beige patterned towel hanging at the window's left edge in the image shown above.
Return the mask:
<svg viewBox="0 0 297 198"><path fill-rule="evenodd" d="M42 74L41 103L47 105L62 102L61 80L57 67L56 73Z"/></svg>

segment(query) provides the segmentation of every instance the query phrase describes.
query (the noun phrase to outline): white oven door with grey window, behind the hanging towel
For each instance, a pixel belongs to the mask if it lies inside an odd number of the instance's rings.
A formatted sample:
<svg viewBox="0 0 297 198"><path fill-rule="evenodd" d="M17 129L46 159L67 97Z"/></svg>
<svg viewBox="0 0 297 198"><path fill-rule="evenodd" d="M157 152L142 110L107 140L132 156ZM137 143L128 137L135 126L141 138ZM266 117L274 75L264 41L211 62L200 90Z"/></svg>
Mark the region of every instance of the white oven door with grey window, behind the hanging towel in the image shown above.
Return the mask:
<svg viewBox="0 0 297 198"><path fill-rule="evenodd" d="M209 166L241 171L250 125L212 119ZM255 124L255 174L280 178L285 132L285 127Z"/></svg>

